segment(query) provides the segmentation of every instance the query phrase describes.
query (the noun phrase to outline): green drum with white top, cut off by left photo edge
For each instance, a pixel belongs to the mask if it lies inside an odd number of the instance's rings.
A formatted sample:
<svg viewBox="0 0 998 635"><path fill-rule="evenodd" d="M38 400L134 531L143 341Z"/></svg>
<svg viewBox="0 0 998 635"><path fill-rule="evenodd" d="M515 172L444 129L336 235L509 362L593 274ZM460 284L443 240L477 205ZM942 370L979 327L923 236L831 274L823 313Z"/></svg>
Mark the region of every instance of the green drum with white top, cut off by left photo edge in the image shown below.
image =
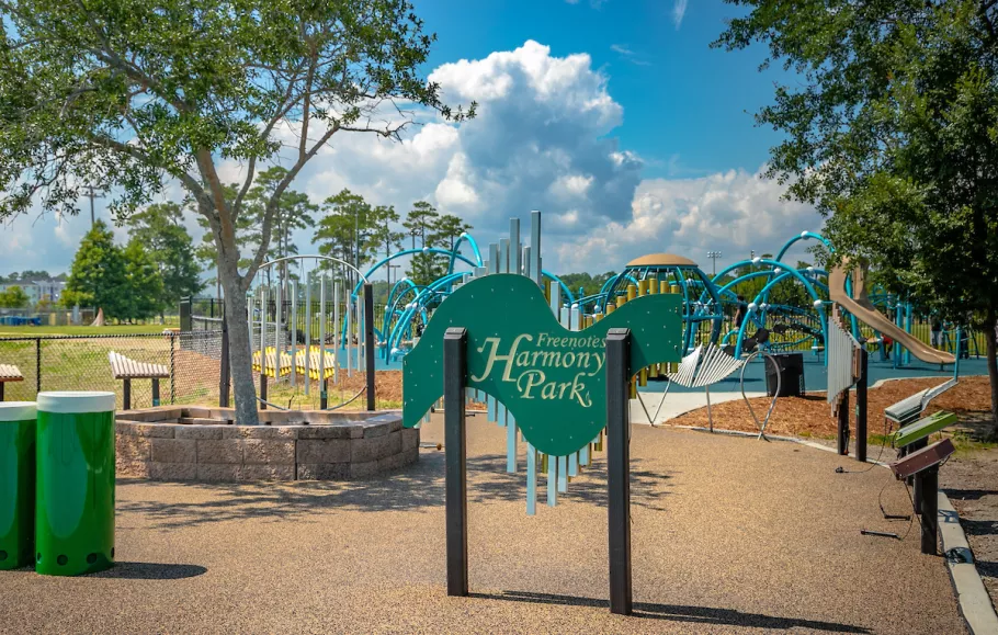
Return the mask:
<svg viewBox="0 0 998 635"><path fill-rule="evenodd" d="M0 401L0 569L34 562L35 404Z"/></svg>

